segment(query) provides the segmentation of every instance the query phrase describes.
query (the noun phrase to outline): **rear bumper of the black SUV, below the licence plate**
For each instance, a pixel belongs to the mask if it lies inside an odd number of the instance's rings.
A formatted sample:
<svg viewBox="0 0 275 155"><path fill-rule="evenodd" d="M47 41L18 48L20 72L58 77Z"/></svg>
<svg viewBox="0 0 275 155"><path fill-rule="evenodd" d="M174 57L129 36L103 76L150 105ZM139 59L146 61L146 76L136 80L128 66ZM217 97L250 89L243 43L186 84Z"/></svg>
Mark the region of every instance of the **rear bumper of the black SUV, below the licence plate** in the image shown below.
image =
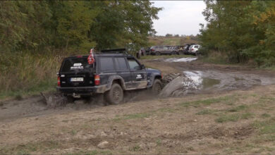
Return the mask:
<svg viewBox="0 0 275 155"><path fill-rule="evenodd" d="M67 95L71 94L80 94L80 95L89 95L95 93L104 93L106 92L107 85L100 85L94 87L56 87L56 90Z"/></svg>

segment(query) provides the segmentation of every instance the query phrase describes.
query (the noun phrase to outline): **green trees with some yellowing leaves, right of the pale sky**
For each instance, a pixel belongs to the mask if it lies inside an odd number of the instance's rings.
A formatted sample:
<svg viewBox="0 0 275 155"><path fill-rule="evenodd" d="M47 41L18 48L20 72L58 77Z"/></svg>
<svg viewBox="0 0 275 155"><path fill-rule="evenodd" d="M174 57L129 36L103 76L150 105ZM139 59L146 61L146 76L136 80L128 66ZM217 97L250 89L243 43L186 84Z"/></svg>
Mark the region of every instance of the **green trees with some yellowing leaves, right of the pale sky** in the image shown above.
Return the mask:
<svg viewBox="0 0 275 155"><path fill-rule="evenodd" d="M231 62L275 65L274 1L205 1L200 41L204 51L220 51Z"/></svg>

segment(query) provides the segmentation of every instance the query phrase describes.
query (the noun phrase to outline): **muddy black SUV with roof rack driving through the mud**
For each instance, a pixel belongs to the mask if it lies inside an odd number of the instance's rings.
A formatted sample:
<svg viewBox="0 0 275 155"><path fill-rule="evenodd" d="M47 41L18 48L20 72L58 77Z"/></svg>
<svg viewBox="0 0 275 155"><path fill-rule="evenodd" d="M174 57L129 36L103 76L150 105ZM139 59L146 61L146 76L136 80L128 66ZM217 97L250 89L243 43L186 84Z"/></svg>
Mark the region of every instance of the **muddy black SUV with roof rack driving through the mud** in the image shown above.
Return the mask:
<svg viewBox="0 0 275 155"><path fill-rule="evenodd" d="M89 64L88 56L64 58L56 87L67 97L104 94L111 104L123 101L123 91L149 89L153 94L161 90L161 72L145 68L125 49L103 50L94 54L95 62Z"/></svg>

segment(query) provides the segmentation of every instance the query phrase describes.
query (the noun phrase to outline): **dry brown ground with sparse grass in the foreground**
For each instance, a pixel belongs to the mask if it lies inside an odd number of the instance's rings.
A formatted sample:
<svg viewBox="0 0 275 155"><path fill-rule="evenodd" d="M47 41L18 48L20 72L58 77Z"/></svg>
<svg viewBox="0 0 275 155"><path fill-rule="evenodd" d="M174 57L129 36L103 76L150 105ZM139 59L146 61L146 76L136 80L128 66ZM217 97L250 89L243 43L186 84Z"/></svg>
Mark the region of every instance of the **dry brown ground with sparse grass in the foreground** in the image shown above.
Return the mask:
<svg viewBox="0 0 275 155"><path fill-rule="evenodd" d="M18 118L0 154L274 154L274 102L270 85Z"/></svg>

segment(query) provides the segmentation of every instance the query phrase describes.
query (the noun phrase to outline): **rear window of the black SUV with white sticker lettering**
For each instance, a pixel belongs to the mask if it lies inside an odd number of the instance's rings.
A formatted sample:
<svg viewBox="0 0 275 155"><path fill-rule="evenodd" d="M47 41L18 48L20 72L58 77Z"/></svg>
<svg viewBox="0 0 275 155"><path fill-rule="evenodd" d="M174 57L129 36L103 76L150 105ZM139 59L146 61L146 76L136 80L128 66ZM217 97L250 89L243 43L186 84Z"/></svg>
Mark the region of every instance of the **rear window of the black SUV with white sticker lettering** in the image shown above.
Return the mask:
<svg viewBox="0 0 275 155"><path fill-rule="evenodd" d="M61 72L92 71L92 65L87 62L87 56L82 58L67 58L63 62Z"/></svg>

